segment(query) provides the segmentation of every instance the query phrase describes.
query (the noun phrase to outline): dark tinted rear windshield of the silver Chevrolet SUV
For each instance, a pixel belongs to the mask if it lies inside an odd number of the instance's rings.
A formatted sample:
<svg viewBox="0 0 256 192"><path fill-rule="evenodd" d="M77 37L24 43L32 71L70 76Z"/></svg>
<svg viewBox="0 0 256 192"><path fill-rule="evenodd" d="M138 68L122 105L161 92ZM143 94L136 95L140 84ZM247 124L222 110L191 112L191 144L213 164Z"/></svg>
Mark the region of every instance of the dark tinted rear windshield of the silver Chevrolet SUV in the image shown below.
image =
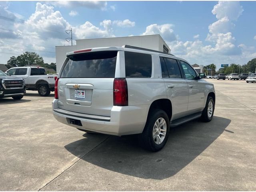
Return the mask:
<svg viewBox="0 0 256 192"><path fill-rule="evenodd" d="M114 78L117 51L101 51L68 56L61 78Z"/></svg>

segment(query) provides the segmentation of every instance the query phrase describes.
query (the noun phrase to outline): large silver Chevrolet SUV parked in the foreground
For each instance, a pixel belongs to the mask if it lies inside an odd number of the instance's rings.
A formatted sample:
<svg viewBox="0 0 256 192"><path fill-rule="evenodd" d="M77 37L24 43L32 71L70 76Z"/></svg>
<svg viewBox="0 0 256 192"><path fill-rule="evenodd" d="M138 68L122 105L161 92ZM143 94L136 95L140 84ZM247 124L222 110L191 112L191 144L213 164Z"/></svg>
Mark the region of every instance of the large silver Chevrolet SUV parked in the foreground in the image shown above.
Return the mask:
<svg viewBox="0 0 256 192"><path fill-rule="evenodd" d="M134 46L67 53L55 82L54 117L85 132L138 134L158 151L170 126L212 120L215 91L172 54Z"/></svg>

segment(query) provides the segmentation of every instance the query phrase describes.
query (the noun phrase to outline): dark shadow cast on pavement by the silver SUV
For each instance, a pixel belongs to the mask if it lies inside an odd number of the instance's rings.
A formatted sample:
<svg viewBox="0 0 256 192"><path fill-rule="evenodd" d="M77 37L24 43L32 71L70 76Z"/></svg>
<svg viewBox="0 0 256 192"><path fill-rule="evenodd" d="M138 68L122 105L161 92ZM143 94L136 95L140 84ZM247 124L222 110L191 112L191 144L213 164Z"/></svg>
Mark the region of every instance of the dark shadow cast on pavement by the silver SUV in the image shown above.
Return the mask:
<svg viewBox="0 0 256 192"><path fill-rule="evenodd" d="M149 152L141 148L136 135L109 136L82 160L121 174L163 180L173 176L198 157L222 134L230 122L229 119L214 116L208 123L194 120L171 128L166 146L159 152ZM89 138L92 134L84 136ZM87 138L66 145L66 150L81 158L83 152L76 148L81 149L88 145Z"/></svg>

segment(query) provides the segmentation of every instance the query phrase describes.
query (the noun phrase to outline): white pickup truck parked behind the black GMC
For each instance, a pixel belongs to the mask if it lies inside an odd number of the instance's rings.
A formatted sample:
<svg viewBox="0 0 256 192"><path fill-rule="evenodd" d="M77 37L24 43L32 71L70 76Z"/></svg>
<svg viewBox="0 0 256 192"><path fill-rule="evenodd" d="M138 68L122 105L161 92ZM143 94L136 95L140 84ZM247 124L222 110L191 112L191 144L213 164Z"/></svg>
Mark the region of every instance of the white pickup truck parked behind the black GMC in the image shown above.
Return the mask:
<svg viewBox="0 0 256 192"><path fill-rule="evenodd" d="M6 71L14 77L21 77L26 84L26 90L38 91L40 96L48 96L54 91L55 79L58 75L47 75L42 67L13 67Z"/></svg>

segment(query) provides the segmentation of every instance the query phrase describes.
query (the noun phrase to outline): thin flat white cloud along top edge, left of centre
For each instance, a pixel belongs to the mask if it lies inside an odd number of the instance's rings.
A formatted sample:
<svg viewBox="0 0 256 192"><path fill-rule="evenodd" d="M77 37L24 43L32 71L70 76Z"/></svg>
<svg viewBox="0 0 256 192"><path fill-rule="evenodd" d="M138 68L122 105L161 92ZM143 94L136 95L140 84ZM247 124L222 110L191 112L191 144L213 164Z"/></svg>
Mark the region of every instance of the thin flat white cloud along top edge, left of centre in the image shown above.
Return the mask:
<svg viewBox="0 0 256 192"><path fill-rule="evenodd" d="M93 9L106 10L106 1L50 1L50 4L60 7L77 8L87 7Z"/></svg>

